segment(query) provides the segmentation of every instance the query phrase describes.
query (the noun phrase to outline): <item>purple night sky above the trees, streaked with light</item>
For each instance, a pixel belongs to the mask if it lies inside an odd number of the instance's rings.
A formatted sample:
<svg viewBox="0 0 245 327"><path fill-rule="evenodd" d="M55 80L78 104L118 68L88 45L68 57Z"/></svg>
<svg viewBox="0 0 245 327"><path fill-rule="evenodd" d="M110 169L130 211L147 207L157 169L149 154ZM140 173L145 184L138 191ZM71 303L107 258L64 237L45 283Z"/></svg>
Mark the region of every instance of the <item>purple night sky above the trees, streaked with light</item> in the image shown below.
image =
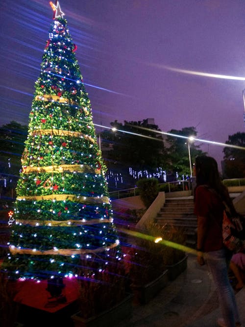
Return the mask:
<svg viewBox="0 0 245 327"><path fill-rule="evenodd" d="M245 131L245 77L177 71L245 76L244 0L59 2L95 124L154 118L162 131L196 126L197 138L222 143ZM27 124L52 22L49 0L1 0L0 22L0 125ZM202 146L219 162L222 149Z"/></svg>

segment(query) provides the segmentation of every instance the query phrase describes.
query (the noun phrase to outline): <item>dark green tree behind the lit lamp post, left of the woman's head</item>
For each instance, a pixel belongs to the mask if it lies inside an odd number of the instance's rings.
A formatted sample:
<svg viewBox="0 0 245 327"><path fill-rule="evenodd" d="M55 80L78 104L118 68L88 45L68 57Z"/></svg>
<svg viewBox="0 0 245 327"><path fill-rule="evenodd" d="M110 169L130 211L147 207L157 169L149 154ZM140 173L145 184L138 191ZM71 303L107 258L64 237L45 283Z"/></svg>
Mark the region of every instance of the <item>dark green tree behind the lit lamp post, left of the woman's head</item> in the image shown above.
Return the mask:
<svg viewBox="0 0 245 327"><path fill-rule="evenodd" d="M171 129L169 133L184 137L196 137L197 135L196 127L193 126L183 127L180 130ZM166 138L168 169L173 173L178 173L179 176L190 176L188 142L190 144L191 162L194 163L197 155L206 154L199 150L199 145L196 145L195 142L188 141L187 138L170 135Z"/></svg>

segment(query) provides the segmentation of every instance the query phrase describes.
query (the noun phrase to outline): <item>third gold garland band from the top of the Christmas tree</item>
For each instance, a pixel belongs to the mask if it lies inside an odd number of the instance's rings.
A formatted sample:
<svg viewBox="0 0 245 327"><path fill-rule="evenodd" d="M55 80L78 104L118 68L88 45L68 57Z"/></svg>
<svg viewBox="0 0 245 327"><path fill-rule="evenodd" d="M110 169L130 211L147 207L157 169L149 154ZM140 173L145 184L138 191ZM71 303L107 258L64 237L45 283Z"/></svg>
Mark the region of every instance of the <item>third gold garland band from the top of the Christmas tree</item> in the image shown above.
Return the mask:
<svg viewBox="0 0 245 327"><path fill-rule="evenodd" d="M99 175L100 169L94 169L88 165L53 165L53 166L46 166L46 167L23 166L24 174L63 173L63 172L94 173Z"/></svg>

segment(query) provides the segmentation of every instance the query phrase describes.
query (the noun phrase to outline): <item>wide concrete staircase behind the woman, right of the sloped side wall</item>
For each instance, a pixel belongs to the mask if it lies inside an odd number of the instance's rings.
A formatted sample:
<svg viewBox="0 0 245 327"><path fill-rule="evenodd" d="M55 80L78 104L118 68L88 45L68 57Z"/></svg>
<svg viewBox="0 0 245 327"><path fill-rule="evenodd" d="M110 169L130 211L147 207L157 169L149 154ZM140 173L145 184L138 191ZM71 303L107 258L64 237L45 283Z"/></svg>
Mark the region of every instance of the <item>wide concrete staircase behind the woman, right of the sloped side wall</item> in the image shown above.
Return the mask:
<svg viewBox="0 0 245 327"><path fill-rule="evenodd" d="M187 236L186 245L196 247L197 218L194 214L193 197L166 199L155 222L159 225L184 227Z"/></svg>

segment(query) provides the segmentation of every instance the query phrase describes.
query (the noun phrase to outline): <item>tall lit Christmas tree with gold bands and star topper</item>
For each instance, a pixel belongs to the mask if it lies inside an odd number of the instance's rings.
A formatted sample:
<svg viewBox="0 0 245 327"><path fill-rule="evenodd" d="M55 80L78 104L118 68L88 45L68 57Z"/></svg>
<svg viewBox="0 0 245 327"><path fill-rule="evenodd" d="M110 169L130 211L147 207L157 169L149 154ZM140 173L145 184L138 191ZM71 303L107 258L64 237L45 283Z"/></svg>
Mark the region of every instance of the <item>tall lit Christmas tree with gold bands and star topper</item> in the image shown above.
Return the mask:
<svg viewBox="0 0 245 327"><path fill-rule="evenodd" d="M3 265L14 278L74 276L81 256L93 264L96 256L98 271L121 259L76 46L59 3L51 6Z"/></svg>

